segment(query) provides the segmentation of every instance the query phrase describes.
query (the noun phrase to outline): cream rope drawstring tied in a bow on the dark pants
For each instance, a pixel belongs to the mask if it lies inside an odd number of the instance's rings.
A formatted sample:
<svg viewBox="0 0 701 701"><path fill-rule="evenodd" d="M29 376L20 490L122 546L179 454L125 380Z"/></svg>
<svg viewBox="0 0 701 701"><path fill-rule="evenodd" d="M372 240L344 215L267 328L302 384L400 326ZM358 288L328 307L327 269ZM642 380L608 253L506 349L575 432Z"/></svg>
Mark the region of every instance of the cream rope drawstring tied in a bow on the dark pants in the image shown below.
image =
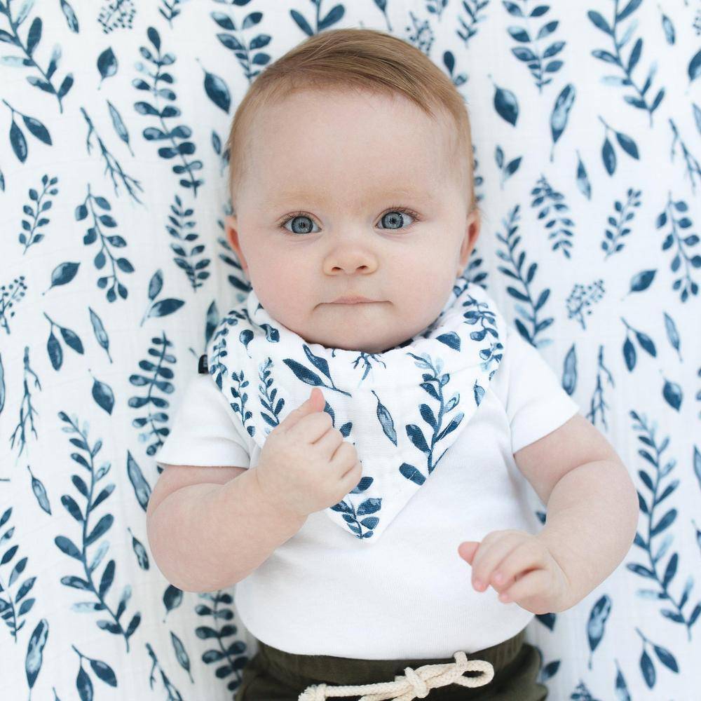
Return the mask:
<svg viewBox="0 0 701 701"><path fill-rule="evenodd" d="M455 662L442 665L423 665L404 669L404 676L395 681L383 681L362 686L329 686L312 684L297 701L325 701L332 696L357 696L358 701L413 701L426 698L431 689L449 684L460 686L484 686L494 679L494 667L486 660L469 660L463 651L454 653ZM463 672L482 672L482 676L462 676Z"/></svg>

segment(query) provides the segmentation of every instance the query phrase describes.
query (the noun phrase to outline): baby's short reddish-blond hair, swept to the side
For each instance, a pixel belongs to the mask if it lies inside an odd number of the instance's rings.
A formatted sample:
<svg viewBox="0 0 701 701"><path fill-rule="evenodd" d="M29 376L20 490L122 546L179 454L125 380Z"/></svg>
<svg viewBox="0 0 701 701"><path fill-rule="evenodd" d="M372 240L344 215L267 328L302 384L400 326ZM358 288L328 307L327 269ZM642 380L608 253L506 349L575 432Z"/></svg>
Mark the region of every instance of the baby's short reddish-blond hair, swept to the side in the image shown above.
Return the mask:
<svg viewBox="0 0 701 701"><path fill-rule="evenodd" d="M470 118L452 81L421 50L395 36L374 29L328 29L297 44L262 71L238 104L229 139L229 194L246 172L244 137L259 109L305 89L338 89L409 98L428 116L435 111L452 116L451 166L469 176L471 212L476 206L474 157ZM451 135L453 132L451 130ZM465 165L467 166L465 168Z"/></svg>

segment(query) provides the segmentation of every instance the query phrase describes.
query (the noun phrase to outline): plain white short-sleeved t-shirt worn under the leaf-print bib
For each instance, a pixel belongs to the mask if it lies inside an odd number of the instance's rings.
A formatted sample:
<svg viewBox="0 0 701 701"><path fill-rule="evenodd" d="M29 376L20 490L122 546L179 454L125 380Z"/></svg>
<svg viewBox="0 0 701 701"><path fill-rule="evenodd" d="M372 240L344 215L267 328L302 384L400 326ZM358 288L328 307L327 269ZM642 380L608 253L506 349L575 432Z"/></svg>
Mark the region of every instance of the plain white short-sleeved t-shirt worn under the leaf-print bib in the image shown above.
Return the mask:
<svg viewBox="0 0 701 701"><path fill-rule="evenodd" d="M501 363L458 440L377 543L323 512L234 587L259 640L299 655L390 660L468 655L519 632L533 613L477 592L458 555L490 531L543 527L545 505L513 454L579 410L554 372L508 323ZM260 449L211 376L194 376L158 454L162 465L257 465Z"/></svg>

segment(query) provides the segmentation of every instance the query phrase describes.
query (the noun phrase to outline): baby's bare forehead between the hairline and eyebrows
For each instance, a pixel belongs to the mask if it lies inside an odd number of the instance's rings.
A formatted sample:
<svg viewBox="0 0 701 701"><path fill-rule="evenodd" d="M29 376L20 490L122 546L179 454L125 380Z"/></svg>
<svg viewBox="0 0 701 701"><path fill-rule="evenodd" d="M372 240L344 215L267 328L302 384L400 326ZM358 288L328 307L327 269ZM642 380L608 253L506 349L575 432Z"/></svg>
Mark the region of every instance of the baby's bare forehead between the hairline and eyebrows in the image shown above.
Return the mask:
<svg viewBox="0 0 701 701"><path fill-rule="evenodd" d="M378 128L363 130L353 124L353 114L340 122L314 121L306 119L304 110L287 114L280 109L283 104L277 107L273 118L251 125L245 158L252 189L259 193L264 189L266 197L275 193L295 199L313 191L332 198L340 191L367 200L403 187L397 197L426 200L437 198L437 190L456 177L461 182L467 177L455 136L447 133L445 123L429 122L430 131L426 124L418 130L416 124L402 121L404 112L397 111L392 120L381 119ZM337 114L334 107L326 116Z"/></svg>

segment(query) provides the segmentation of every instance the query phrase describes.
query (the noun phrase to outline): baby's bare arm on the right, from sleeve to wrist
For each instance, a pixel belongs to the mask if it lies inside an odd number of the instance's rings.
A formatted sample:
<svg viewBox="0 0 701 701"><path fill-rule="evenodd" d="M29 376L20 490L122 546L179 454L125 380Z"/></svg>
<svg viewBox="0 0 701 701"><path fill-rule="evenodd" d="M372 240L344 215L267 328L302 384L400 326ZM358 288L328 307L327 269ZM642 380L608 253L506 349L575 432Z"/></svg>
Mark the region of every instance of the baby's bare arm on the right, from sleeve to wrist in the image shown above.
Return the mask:
<svg viewBox="0 0 701 701"><path fill-rule="evenodd" d="M514 454L547 504L538 533L566 574L574 606L618 567L638 524L635 486L611 444L581 414Z"/></svg>

